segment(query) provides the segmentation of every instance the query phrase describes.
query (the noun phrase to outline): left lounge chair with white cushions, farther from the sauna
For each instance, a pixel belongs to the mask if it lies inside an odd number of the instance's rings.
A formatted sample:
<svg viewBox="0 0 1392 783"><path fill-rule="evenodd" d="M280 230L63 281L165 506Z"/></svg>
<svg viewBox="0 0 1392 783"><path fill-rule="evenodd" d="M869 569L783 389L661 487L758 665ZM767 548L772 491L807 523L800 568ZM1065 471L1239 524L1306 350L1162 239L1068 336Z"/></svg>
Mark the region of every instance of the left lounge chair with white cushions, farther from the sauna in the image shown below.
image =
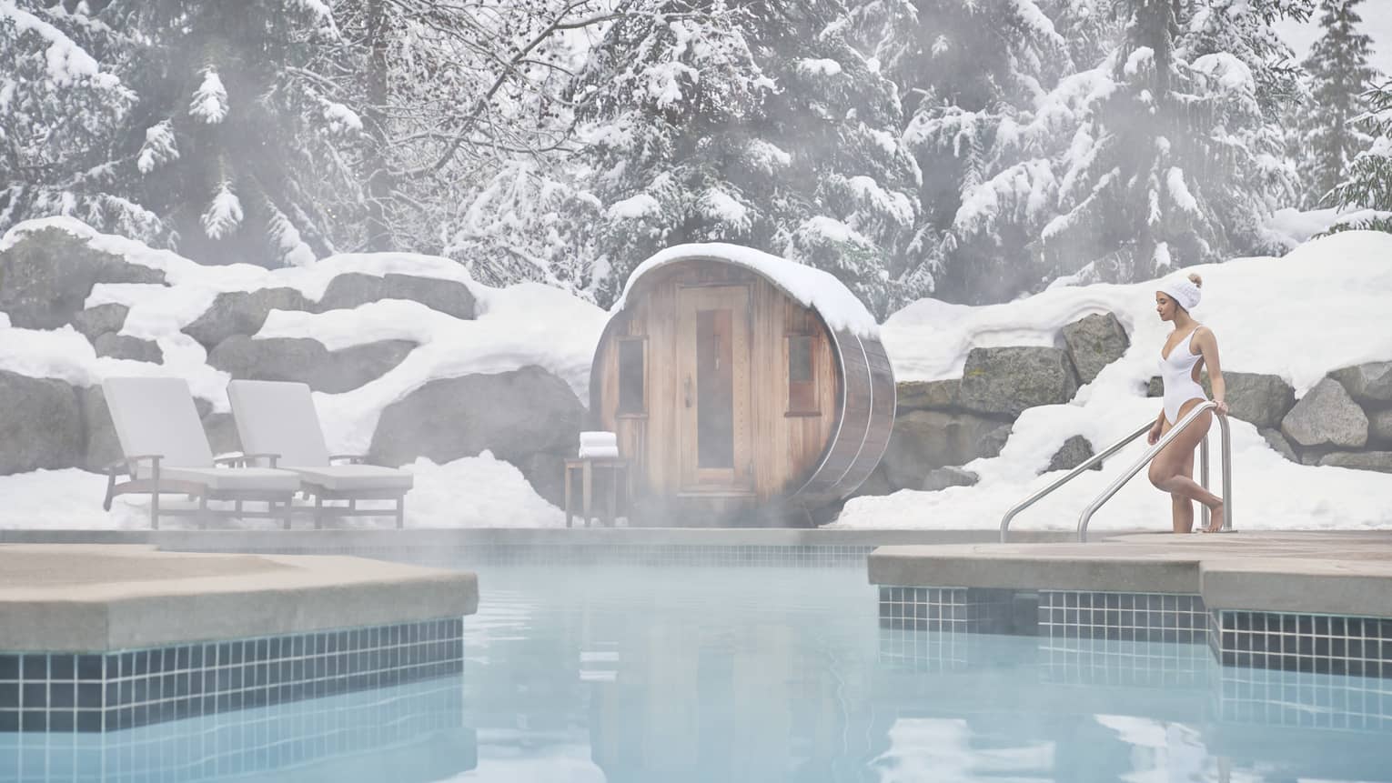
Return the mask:
<svg viewBox="0 0 1392 783"><path fill-rule="evenodd" d="M117 495L150 495L150 527L160 526L160 495L198 498L198 509L167 509L166 516L196 515L277 517L290 527L290 503L299 477L276 469L276 455L256 455L270 467L246 467L246 456L213 459L207 434L184 378L107 378L102 382L124 459L107 467L106 501ZM120 476L129 480L117 483ZM232 512L207 508L209 501L231 501ZM264 502L267 510L242 510L245 501Z"/></svg>

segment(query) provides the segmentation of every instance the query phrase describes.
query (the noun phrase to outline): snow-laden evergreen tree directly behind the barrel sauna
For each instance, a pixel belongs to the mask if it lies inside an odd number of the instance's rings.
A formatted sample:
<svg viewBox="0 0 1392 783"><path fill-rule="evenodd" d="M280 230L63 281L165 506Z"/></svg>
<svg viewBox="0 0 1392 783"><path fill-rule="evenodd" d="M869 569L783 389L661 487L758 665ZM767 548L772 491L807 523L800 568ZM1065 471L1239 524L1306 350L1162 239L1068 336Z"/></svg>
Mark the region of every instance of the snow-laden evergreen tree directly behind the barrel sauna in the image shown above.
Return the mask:
<svg viewBox="0 0 1392 783"><path fill-rule="evenodd" d="M824 268L881 313L913 296L902 248L917 170L894 83L852 46L845 8L715 3L696 24L689 4L660 0L650 13L608 31L578 88L593 97L597 300L657 249L699 241Z"/></svg>

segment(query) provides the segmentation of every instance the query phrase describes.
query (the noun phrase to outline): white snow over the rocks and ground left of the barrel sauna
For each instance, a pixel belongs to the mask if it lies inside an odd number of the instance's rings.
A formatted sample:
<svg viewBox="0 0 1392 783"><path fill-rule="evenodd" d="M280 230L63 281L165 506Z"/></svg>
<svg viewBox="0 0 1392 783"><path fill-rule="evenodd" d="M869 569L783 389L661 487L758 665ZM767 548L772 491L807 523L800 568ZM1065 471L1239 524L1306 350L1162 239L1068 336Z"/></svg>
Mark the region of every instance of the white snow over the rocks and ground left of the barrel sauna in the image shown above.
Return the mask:
<svg viewBox="0 0 1392 783"><path fill-rule="evenodd" d="M372 442L381 410L416 388L437 380L476 373L503 373L541 366L565 380L585 401L594 345L607 316L564 291L537 284L490 288L475 282L448 259L411 253L340 255L312 267L266 270L251 264L200 266L177 253L104 235L70 218L29 221L0 238L0 250L26 231L60 228L134 264L164 273L164 285L99 284L88 307L120 303L131 310L121 334L153 339L164 352L163 364L97 357L92 344L72 327L40 331L13 328L0 316L0 370L29 377L58 378L74 385L100 384L113 376L180 376L193 394L230 410L231 377L207 364L202 345L180 330L193 323L224 291L295 288L308 299L323 296L340 274L388 273L432 277L469 286L477 318L465 321L418 302L383 300L352 310L302 313L273 310L258 338L309 337L330 350L380 339L420 344L383 377L344 394L315 392L315 406L333 453L363 453ZM561 524L561 512L543 501L515 467L480 455L436 466L420 460L416 487L408 497L408 524L415 527ZM106 480L81 470L35 471L0 477L0 527L145 527L138 502L117 499L102 512ZM348 522L352 524L352 522ZM177 523L173 523L177 524ZM274 526L270 520L249 526ZM363 520L362 524L379 524Z"/></svg>

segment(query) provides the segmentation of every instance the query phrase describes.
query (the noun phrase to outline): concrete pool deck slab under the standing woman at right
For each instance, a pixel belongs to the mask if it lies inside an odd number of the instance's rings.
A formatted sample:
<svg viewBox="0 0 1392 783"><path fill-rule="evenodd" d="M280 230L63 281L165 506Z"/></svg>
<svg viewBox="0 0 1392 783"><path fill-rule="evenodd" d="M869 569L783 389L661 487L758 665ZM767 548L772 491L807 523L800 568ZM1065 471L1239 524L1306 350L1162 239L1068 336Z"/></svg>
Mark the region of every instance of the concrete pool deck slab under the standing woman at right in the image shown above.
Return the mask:
<svg viewBox="0 0 1392 783"><path fill-rule="evenodd" d="M891 545L867 562L880 586L1178 592L1201 595L1208 609L1392 617L1392 531Z"/></svg>

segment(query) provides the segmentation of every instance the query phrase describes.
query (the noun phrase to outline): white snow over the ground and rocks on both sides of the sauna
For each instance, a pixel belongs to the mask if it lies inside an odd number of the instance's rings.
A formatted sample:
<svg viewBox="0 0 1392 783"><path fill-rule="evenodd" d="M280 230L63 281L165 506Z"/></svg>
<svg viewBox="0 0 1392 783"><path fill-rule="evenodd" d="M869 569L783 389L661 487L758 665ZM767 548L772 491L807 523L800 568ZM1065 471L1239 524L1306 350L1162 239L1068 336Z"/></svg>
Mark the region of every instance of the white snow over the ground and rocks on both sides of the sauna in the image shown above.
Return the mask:
<svg viewBox="0 0 1392 783"><path fill-rule="evenodd" d="M259 337L313 337L330 349L388 338L422 344L383 378L345 394L316 392L315 405L334 452L365 451L380 410L433 378L540 364L565 378L583 401L590 357L607 318L597 307L557 289L535 284L504 289L479 285L458 264L430 256L335 256L309 268L276 271L251 266L203 267L174 253L96 235L72 221L45 223L166 271L171 288L99 285L88 306L103 302L131 306L122 334L157 341L167 366L96 357L92 345L70 327L18 330L0 320L0 369L77 384L118 374L177 373L191 380L195 394L223 410L227 374L209 367L203 348L180 332L217 292L292 286L317 299L329 280L345 271L422 274L469 285L479 300L480 316L475 321L459 321L412 302L377 302L319 314L271 313ZM0 248L13 241L13 235L7 236ZM1204 275L1204 302L1194 316L1218 335L1226 370L1272 373L1303 395L1329 370L1392 360L1389 235L1345 232L1303 245L1281 259L1236 259L1193 271ZM959 377L972 348L1058 345L1063 324L1108 310L1130 334L1130 350L1083 387L1069 405L1026 410L998 458L966 466L981 476L980 484L857 498L835 524L992 528L1013 502L1055 477L1037 471L1066 438L1082 434L1101 448L1158 410L1160 401L1146 398L1146 382L1157 371L1168 325L1154 314L1151 284L1057 285L1027 299L983 307L924 299L892 314L881 335L899 380L937 380ZM1392 476L1293 465L1267 446L1253 426L1233 420L1232 427L1232 515L1237 527L1392 527ZM1016 519L1016 528L1073 527L1087 501L1140 449L1140 444L1130 446L1109 460L1107 470L1087 473L1025 512ZM1217 483L1217 448L1214 462ZM416 473L416 488L406 499L411 527L539 527L562 522L561 512L539 498L516 469L490 455L443 466L422 459L408 469ZM0 527L145 527L145 506L138 502L117 499L110 515L102 512L104 481L82 470L0 477L0 498L6 501L0 503ZM1168 499L1143 477L1122 490L1093 522L1096 530L1168 524Z"/></svg>

